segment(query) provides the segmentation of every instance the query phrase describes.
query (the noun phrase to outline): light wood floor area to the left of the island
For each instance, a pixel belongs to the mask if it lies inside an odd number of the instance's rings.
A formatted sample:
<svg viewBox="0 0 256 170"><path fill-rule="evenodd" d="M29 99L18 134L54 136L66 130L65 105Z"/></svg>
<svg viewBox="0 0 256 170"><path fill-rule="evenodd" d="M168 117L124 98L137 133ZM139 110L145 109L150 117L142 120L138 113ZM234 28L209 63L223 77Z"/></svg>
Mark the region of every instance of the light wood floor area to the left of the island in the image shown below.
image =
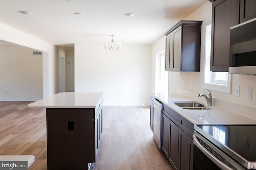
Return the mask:
<svg viewBox="0 0 256 170"><path fill-rule="evenodd" d="M32 154L30 170L45 170L46 110L28 108L29 103L0 102L0 154Z"/></svg>

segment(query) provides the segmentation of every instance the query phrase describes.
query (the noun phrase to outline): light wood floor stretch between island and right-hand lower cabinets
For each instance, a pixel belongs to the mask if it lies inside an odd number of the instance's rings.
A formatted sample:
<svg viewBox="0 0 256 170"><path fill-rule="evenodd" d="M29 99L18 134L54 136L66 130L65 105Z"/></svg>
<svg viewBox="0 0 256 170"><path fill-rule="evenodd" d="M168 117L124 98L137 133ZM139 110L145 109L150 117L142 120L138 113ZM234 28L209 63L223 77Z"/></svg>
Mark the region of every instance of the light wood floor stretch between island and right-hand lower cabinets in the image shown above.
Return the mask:
<svg viewBox="0 0 256 170"><path fill-rule="evenodd" d="M172 170L150 130L146 107L104 107L104 131L94 170Z"/></svg>

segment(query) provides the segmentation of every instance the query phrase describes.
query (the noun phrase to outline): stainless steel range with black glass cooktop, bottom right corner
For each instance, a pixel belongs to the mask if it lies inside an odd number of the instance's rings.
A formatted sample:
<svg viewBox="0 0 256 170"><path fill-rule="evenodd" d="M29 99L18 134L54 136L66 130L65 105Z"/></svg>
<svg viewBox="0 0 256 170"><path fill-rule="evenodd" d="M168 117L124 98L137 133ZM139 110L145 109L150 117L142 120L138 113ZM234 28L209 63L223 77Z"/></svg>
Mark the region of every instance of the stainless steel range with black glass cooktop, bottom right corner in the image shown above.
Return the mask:
<svg viewBox="0 0 256 170"><path fill-rule="evenodd" d="M193 169L256 169L256 125L194 125Z"/></svg>

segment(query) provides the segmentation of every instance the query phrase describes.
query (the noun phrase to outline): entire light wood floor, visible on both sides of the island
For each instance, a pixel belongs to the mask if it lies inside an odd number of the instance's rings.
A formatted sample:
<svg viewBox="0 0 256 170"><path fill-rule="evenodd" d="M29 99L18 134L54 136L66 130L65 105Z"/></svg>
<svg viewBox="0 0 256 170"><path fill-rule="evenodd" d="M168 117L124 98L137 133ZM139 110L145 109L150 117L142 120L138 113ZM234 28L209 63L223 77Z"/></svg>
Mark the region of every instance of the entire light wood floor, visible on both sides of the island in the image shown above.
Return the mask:
<svg viewBox="0 0 256 170"><path fill-rule="evenodd" d="M0 155L33 154L30 170L46 170L46 109L31 102L0 102ZM104 107L94 170L172 170L149 128L146 107Z"/></svg>

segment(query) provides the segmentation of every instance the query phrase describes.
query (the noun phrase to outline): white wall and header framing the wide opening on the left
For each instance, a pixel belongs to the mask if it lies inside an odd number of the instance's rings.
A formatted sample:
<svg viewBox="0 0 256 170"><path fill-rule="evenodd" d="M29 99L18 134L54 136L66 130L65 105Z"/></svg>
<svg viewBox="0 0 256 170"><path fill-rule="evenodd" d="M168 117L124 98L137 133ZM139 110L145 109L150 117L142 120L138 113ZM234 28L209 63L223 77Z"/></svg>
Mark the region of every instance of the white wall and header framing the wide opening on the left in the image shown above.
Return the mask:
<svg viewBox="0 0 256 170"><path fill-rule="evenodd" d="M0 23L0 40L43 52L43 96L58 92L58 57L55 46L34 36Z"/></svg>

